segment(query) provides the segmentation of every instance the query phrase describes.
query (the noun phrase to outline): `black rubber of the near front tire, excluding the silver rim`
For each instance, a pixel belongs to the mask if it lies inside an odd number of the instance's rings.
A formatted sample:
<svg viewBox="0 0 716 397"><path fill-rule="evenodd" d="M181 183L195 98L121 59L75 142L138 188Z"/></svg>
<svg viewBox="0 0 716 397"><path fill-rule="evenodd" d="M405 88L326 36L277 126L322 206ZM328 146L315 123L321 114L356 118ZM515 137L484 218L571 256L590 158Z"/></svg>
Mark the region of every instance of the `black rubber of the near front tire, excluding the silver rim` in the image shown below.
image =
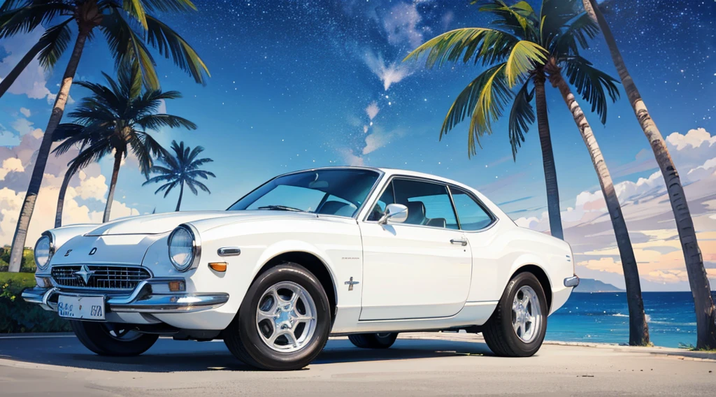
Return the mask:
<svg viewBox="0 0 716 397"><path fill-rule="evenodd" d="M316 328L313 335L298 351L290 353L270 348L264 343L256 326L256 311L264 291L282 282L296 283L306 290L316 309ZM330 332L331 310L323 286L316 276L303 266L286 262L269 268L251 284L236 317L223 331L223 340L229 351L249 366L270 371L292 371L304 368L314 361L326 345Z"/></svg>

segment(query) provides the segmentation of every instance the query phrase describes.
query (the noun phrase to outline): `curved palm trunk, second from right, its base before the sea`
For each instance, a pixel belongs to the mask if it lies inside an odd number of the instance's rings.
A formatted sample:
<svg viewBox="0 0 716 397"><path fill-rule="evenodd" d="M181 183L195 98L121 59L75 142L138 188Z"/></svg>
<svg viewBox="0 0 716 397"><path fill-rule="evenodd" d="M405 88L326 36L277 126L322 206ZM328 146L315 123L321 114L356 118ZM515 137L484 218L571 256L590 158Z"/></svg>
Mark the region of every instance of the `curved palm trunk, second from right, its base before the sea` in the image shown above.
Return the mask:
<svg viewBox="0 0 716 397"><path fill-rule="evenodd" d="M621 257L621 268L624 270L624 282L627 285L627 304L629 305L629 345L644 346L649 344L649 325L644 315L644 301L642 300L642 285L639 281L639 268L637 268L637 259L634 257L634 249L632 241L629 239L629 231L627 230L627 222L621 214L621 206L619 198L616 197L614 191L614 183L611 181L611 175L606 168L604 157L599 150L599 144L596 137L591 131L589 122L587 122L584 112L574 99L569 85L562 78L559 69L555 65L551 65L554 69L550 72L550 82L553 87L557 87L562 94L564 102L566 102L569 111L574 117L574 122L579 128L584 144L589 150L591 162L599 177L599 185L601 192L606 201L606 207L611 216L611 225L614 227L614 235L616 235L616 246L619 247L619 256Z"/></svg>

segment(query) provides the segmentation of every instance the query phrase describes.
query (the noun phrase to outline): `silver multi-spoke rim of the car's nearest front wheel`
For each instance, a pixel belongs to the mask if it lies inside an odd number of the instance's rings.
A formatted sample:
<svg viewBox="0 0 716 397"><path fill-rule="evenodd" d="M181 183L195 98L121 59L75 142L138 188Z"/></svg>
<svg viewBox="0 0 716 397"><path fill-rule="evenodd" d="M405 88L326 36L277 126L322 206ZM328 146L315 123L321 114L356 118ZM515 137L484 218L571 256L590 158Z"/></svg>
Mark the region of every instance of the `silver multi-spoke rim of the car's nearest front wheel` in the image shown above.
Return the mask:
<svg viewBox="0 0 716 397"><path fill-rule="evenodd" d="M316 303L291 281L271 285L256 307L256 330L269 348L293 353L304 348L316 332Z"/></svg>

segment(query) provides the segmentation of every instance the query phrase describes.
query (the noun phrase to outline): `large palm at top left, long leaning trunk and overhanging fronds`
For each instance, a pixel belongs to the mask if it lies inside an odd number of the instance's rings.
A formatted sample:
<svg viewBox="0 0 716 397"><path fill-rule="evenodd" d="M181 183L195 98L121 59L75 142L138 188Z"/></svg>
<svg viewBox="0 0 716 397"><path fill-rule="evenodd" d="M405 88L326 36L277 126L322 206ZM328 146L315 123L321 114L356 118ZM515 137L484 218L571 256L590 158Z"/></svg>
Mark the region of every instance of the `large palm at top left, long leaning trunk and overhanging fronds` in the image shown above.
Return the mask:
<svg viewBox="0 0 716 397"><path fill-rule="evenodd" d="M27 228L52 147L52 134L62 119L84 44L88 39L97 37L95 29L100 29L107 39L115 64L136 64L147 87L159 87L155 61L147 44L158 49L160 55L172 59L196 82L203 83L204 73L208 75L209 72L198 54L179 34L150 14L152 11L195 9L190 0L6 0L0 7L0 39L27 33L39 26L50 26L40 39L43 44L39 51L40 64L48 69L54 67L69 46L73 21L77 24L72 55L64 70L18 217L12 240L10 271L16 272L20 268Z"/></svg>

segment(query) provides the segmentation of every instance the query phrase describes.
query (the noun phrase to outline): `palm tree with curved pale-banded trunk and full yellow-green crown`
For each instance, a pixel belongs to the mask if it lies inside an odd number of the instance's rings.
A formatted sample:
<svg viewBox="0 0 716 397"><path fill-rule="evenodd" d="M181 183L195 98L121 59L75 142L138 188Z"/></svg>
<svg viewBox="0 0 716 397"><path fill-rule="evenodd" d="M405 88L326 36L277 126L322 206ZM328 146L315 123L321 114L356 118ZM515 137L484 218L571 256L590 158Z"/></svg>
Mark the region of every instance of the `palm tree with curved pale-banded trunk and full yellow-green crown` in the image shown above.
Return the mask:
<svg viewBox="0 0 716 397"><path fill-rule="evenodd" d="M475 152L474 142L478 142L481 135L491 133L491 123L502 116L505 104L510 101L513 104L509 132L514 152L514 142L523 139L523 132L535 118L530 105L533 94L529 84L535 87L538 124L547 123L546 114L539 119L540 113L546 113L542 92L545 79L559 88L589 150L611 215L627 285L629 343L646 345L649 343L649 328L644 315L639 269L627 225L621 216L619 200L591 127L561 74L564 68L569 82L591 104L592 111L597 112L601 122L606 122L607 94L614 101L619 92L614 79L579 55L579 48L589 46L588 40L594 37L597 28L589 15L579 14L578 10L576 0L543 0L539 13L526 1L512 6L500 0L488 1L480 7L480 11L496 14L498 17L493 24L501 29L448 31L425 42L406 59L420 57L427 52L428 67L446 62L467 64L480 61L487 67L455 99L440 131L442 137L448 129L470 117L468 148L471 153ZM515 92L514 87L521 88ZM544 148L548 142L543 140L541 143ZM546 157L544 152L543 157ZM545 172L551 171L545 168Z"/></svg>

